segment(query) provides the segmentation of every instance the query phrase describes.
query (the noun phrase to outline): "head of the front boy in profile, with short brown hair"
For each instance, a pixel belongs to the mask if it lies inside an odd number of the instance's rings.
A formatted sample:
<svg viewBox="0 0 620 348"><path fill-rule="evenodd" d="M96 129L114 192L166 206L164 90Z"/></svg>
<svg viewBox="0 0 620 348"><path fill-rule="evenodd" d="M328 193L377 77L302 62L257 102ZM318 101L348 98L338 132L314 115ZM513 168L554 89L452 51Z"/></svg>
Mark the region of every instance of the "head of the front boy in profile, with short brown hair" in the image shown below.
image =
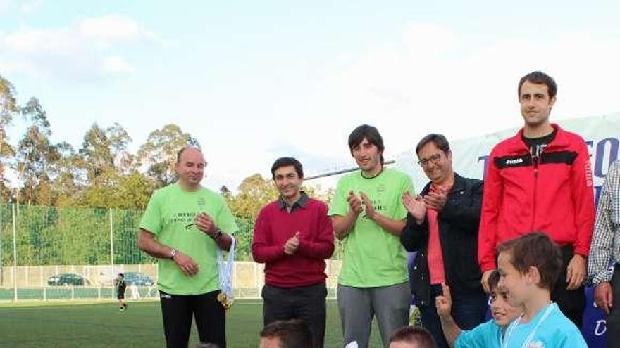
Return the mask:
<svg viewBox="0 0 620 348"><path fill-rule="evenodd" d="M520 307L537 295L549 295L562 271L562 254L545 233L528 233L497 247L498 288L509 304Z"/></svg>

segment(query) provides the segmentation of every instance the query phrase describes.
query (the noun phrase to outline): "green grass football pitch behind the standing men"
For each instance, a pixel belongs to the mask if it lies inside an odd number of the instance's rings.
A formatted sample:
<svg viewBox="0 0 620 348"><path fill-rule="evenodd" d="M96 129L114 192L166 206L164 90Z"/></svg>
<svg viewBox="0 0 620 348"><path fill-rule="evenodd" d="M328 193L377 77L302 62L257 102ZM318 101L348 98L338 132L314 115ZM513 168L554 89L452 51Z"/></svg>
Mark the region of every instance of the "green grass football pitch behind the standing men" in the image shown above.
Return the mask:
<svg viewBox="0 0 620 348"><path fill-rule="evenodd" d="M228 348L256 348L262 304L237 301L228 311ZM335 301L328 301L325 347L342 347ZM192 330L190 347L198 342ZM132 302L121 313L116 303L0 304L0 347L165 347L159 302ZM381 347L373 324L371 347Z"/></svg>

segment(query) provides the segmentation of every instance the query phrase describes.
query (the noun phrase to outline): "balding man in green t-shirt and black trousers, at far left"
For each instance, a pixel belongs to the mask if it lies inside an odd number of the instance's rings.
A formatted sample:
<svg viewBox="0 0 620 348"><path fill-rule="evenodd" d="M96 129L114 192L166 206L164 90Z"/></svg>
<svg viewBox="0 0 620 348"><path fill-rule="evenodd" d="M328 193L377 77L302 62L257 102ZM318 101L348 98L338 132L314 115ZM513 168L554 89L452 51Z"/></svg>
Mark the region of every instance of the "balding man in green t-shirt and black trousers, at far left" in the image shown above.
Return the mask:
<svg viewBox="0 0 620 348"><path fill-rule="evenodd" d="M159 292L167 347L187 347L192 316L201 342L226 347L218 249L229 250L237 230L221 195L200 185L206 162L194 146L177 155L179 180L151 196L138 247L159 259Z"/></svg>

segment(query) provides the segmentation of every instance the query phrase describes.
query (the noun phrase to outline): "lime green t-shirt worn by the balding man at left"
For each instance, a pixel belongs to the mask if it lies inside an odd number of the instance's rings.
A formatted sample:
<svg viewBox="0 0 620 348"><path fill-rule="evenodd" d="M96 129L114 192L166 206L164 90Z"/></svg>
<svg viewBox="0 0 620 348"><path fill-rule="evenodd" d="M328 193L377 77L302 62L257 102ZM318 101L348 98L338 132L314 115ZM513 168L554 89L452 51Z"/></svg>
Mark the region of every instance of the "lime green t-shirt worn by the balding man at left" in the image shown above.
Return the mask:
<svg viewBox="0 0 620 348"><path fill-rule="evenodd" d="M224 198L208 188L184 191L175 183L153 193L140 228L154 233L159 243L187 254L198 264L198 273L185 276L169 259L159 259L159 290L173 295L200 295L219 289L218 246L194 226L194 217L206 212L226 233L237 231Z"/></svg>

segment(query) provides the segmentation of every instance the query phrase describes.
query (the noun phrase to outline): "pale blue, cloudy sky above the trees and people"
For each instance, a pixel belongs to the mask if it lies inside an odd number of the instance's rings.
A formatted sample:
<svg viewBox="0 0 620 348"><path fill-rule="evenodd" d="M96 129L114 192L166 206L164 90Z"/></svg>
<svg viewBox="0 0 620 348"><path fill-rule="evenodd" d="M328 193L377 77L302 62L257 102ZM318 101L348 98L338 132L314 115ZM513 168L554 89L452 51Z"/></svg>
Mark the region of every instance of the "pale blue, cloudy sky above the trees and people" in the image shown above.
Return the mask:
<svg viewBox="0 0 620 348"><path fill-rule="evenodd" d="M518 127L532 70L557 79L552 120L620 111L618 18L618 1L0 0L0 74L55 141L118 122L137 150L175 123L204 147L204 183L232 188L283 155L353 165L361 123L388 158L429 132Z"/></svg>

